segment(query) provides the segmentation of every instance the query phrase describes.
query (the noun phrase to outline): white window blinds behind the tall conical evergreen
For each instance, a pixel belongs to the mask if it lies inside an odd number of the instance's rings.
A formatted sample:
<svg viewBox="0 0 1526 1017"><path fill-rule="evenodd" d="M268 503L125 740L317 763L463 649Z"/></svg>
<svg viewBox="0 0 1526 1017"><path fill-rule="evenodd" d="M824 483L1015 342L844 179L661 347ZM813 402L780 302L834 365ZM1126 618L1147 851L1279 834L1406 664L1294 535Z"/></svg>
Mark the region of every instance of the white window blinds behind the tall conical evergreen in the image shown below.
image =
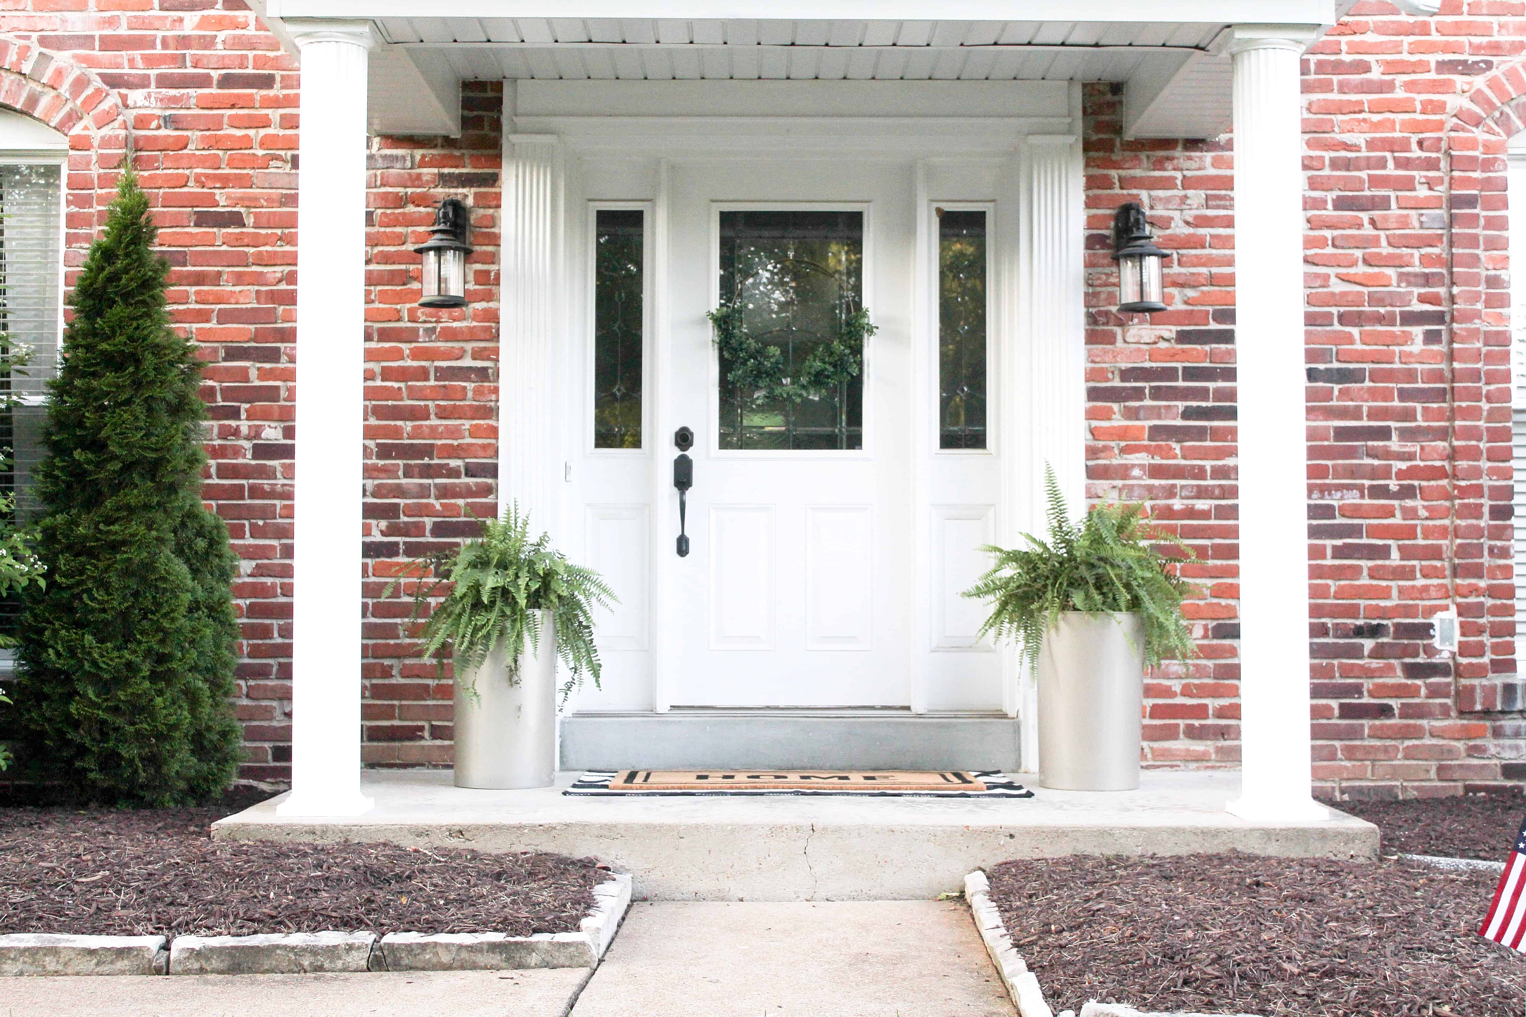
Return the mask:
<svg viewBox="0 0 1526 1017"><path fill-rule="evenodd" d="M58 367L61 195L61 165L8 163L0 152L0 343L32 348L24 375L0 375L0 390L21 399L0 412L0 445L11 457L3 482L23 514L32 508L31 474L43 451L47 380Z"/></svg>

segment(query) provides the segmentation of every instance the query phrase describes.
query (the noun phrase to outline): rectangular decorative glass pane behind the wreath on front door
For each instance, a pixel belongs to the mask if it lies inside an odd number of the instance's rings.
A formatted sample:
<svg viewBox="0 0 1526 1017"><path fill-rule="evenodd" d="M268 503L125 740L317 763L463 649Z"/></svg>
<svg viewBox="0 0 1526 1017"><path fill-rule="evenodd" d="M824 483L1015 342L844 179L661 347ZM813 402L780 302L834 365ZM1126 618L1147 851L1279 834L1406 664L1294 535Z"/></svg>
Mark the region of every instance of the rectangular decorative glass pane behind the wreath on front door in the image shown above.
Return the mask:
<svg viewBox="0 0 1526 1017"><path fill-rule="evenodd" d="M864 303L864 213L720 212L720 302L742 311L751 338L778 348L790 377ZM720 448L864 448L862 371L815 398L760 399L731 381L734 367L722 355Z"/></svg>

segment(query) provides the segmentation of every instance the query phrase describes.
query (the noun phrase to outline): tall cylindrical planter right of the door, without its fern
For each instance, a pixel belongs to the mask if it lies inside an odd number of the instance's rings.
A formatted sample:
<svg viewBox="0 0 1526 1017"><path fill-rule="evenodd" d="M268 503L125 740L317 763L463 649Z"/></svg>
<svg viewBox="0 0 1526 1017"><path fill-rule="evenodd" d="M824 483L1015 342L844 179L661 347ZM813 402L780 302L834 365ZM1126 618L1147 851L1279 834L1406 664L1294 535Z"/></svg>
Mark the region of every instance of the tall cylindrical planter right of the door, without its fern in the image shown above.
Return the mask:
<svg viewBox="0 0 1526 1017"><path fill-rule="evenodd" d="M1140 785L1144 625L1137 614L1065 611L1039 650L1039 784Z"/></svg>

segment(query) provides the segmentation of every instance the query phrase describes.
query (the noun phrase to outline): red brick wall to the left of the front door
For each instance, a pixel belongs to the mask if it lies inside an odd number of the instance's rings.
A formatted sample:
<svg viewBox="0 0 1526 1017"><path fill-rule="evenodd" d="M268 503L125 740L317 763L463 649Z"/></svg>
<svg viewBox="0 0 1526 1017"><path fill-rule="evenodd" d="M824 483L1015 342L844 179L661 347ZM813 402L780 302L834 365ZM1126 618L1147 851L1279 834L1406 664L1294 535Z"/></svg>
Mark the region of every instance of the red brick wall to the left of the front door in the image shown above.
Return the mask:
<svg viewBox="0 0 1526 1017"><path fill-rule="evenodd" d="M67 264L116 186L127 134L172 265L169 302L201 343L206 497L243 558L243 776L290 775L296 61L240 0L0 0L0 102L70 134ZM502 85L470 82L459 139L371 139L366 268L365 759L447 762L450 692L401 660L397 563L459 540L496 505ZM99 93L99 95L96 95ZM125 108L121 114L118 105ZM124 130L130 128L130 130ZM473 210L470 305L418 308L432 206ZM357 689L357 694L362 692Z"/></svg>

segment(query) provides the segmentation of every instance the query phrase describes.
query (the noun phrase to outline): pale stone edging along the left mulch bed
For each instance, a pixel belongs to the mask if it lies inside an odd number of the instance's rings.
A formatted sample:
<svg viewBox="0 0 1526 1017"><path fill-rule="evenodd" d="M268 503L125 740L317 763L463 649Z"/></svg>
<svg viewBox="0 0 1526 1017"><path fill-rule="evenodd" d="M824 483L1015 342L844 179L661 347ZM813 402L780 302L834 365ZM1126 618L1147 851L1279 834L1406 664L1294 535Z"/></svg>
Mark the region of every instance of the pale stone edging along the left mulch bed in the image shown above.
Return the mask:
<svg viewBox="0 0 1526 1017"><path fill-rule="evenodd" d="M299 932L284 936L0 936L0 976L12 974L314 974L597 968L630 907L630 877L594 887L578 932L507 936Z"/></svg>

